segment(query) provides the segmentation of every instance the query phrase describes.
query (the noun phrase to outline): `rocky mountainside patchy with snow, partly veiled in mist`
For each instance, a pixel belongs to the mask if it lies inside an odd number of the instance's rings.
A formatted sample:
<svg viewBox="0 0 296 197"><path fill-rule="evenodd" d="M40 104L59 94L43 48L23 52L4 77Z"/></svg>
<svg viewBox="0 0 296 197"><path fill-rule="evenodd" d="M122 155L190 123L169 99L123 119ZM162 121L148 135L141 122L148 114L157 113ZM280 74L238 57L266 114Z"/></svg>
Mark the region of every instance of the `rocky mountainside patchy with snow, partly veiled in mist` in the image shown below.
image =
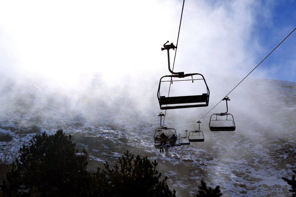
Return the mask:
<svg viewBox="0 0 296 197"><path fill-rule="evenodd" d="M296 167L296 83L247 80L229 95L228 112L236 131L209 130L210 115L225 112L225 103L220 103L201 120L204 142L168 153L154 148L160 110L153 91L143 99L144 95L126 94L130 87L107 91L33 84L1 81L0 132L14 136L10 158L35 135L26 134L32 125L50 134L61 128L78 148L86 148L90 171L102 168L105 161L116 163L129 150L156 159L158 171L168 176L177 196L195 196L201 179L212 187L220 185L224 196L290 196L281 177L290 177ZM210 90L213 86L209 83ZM213 89L209 107L171 110L165 124L177 133L190 127L223 98ZM2 154L7 145L0 142Z"/></svg>

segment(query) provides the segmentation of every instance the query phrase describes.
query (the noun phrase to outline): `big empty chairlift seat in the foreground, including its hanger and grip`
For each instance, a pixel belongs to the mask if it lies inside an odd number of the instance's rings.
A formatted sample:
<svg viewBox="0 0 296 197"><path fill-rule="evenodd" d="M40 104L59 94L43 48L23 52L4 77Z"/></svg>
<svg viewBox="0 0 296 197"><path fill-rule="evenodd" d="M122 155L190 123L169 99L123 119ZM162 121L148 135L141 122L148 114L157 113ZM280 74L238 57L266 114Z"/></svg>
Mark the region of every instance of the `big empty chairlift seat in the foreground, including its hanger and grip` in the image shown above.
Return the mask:
<svg viewBox="0 0 296 197"><path fill-rule="evenodd" d="M184 74L184 72L173 72L170 67L169 50L174 50L176 47L173 43L169 45L166 44L167 42L163 45L164 48L162 48L162 50L167 50L168 68L172 75L166 75L160 78L157 92L160 109L167 110L190 107L207 107L209 104L210 90L204 76L199 73ZM167 84L167 86L165 86L165 84ZM165 88L163 88L163 86L165 86ZM187 90L189 88L190 91L188 93L184 93L183 90ZM166 91L172 91L172 89L174 89L175 92L170 92L171 95L173 94L171 96ZM168 95L167 97L164 95L166 93Z"/></svg>

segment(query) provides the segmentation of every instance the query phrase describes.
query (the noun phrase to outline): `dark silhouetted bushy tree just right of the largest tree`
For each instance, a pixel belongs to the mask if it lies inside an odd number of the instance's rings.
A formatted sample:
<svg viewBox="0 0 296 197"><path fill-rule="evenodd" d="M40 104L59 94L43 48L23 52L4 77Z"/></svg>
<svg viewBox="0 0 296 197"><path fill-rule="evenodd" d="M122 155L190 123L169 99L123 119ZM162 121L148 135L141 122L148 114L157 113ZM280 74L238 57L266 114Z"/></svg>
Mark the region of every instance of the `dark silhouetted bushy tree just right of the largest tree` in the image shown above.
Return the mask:
<svg viewBox="0 0 296 197"><path fill-rule="evenodd" d="M159 181L161 173L156 170L157 163L150 162L147 157L131 155L127 151L119 159L120 167L115 164L110 168L106 162L105 170L98 168L93 175L93 196L149 196L175 197L166 183L167 176Z"/></svg>

